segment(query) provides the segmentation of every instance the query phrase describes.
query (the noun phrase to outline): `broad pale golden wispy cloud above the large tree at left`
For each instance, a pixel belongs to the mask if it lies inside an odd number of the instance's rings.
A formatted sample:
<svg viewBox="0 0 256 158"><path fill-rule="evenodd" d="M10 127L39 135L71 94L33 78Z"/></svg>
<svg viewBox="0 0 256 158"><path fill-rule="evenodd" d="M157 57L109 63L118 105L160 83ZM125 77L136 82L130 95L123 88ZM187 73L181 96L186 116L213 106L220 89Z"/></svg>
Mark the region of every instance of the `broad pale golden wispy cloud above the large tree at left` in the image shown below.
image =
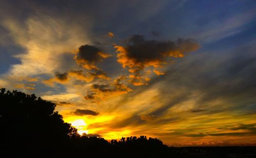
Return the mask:
<svg viewBox="0 0 256 158"><path fill-rule="evenodd" d="M7 72L11 76L51 74L61 68L61 55L72 52L82 42L89 42L82 33L86 32L84 28L75 25L77 22L67 25L70 22L68 18L39 13L36 8L33 9L33 14L24 19L10 17L0 21L14 44L26 50L14 56L20 62L11 65Z"/></svg>

